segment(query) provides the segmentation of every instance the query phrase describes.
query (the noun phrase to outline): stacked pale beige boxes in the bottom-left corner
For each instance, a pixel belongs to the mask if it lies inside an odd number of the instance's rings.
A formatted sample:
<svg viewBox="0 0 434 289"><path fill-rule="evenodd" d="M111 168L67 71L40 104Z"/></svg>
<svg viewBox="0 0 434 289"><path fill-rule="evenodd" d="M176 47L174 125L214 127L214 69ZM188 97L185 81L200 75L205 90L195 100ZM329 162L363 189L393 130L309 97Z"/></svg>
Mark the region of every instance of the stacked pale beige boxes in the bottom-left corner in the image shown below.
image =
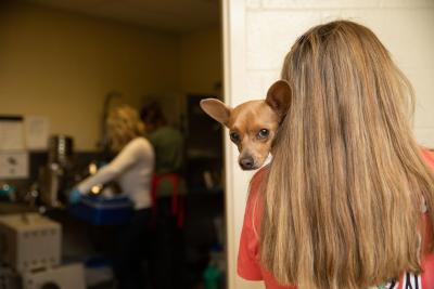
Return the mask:
<svg viewBox="0 0 434 289"><path fill-rule="evenodd" d="M39 213L0 216L0 289L86 289L82 264L61 265L62 226Z"/></svg>

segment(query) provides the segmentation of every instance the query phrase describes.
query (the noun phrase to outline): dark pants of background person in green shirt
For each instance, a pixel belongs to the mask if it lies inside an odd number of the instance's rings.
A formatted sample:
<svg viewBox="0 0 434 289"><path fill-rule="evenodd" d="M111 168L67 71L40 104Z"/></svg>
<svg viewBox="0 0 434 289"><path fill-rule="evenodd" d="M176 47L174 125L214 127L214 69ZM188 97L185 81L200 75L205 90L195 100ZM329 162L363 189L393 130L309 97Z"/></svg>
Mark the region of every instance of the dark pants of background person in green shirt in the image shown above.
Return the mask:
<svg viewBox="0 0 434 289"><path fill-rule="evenodd" d="M183 234L171 211L171 197L163 197L157 200L153 248L151 266L155 288L183 288L181 272L184 265Z"/></svg>

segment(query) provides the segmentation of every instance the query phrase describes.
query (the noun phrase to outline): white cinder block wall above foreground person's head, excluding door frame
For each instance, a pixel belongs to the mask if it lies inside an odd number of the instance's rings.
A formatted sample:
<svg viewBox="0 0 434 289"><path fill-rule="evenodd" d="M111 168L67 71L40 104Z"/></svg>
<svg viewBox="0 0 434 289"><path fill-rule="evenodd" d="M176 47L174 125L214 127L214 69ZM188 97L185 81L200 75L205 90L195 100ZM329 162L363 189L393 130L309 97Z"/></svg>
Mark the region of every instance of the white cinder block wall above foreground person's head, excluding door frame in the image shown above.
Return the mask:
<svg viewBox="0 0 434 289"><path fill-rule="evenodd" d="M371 28L416 89L414 133L434 147L434 0L247 0L248 95L278 78L282 60L307 28L336 18Z"/></svg>

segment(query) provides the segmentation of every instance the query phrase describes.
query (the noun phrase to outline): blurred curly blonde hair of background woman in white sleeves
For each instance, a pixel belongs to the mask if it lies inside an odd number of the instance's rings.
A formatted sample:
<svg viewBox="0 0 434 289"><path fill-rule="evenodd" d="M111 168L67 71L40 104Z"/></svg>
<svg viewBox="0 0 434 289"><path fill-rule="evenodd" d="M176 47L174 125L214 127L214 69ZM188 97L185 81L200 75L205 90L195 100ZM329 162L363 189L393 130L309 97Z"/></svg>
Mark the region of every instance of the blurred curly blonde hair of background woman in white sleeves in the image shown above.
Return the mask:
<svg viewBox="0 0 434 289"><path fill-rule="evenodd" d="M107 117L107 132L111 148L119 152L132 139L143 136L144 124L139 113L127 105L113 108Z"/></svg>

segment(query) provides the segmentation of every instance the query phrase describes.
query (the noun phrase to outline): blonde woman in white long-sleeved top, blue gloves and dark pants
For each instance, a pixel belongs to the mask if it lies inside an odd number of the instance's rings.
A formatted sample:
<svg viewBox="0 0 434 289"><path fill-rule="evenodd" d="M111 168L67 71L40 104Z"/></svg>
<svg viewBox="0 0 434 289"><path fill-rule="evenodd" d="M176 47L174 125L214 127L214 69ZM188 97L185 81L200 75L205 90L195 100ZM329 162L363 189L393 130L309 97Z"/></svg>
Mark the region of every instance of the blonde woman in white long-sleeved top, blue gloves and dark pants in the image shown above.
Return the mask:
<svg viewBox="0 0 434 289"><path fill-rule="evenodd" d="M142 280L141 262L143 248L149 244L151 222L151 187L154 172L154 149L142 135L144 124L136 109L120 106L107 117L107 133L111 148L117 156L94 175L79 183L69 194L76 203L94 185L117 180L123 194L133 202L133 215L120 228L114 260L114 272L120 289L145 288Z"/></svg>

